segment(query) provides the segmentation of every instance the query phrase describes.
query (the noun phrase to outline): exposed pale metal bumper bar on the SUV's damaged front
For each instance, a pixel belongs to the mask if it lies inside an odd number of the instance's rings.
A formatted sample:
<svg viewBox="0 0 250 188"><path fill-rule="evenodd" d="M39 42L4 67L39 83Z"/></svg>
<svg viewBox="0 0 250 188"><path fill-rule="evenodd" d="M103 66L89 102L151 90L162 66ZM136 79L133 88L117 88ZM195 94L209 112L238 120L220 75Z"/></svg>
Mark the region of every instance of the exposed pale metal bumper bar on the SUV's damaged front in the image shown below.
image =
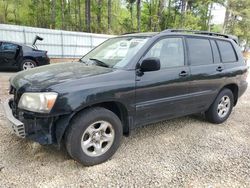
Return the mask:
<svg viewBox="0 0 250 188"><path fill-rule="evenodd" d="M7 118L7 125L11 131L18 137L25 138L26 134L24 124L13 116L9 101L3 103L3 110L5 117Z"/></svg>

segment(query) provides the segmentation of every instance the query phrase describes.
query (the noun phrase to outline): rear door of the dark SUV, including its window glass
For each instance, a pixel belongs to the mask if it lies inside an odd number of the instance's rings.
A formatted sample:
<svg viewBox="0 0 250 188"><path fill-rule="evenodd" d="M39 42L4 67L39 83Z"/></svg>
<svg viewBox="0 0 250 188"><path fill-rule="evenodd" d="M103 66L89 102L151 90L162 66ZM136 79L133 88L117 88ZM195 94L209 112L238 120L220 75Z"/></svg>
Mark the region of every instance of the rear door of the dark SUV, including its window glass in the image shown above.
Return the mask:
<svg viewBox="0 0 250 188"><path fill-rule="evenodd" d="M204 111L213 102L224 83L224 65L216 42L209 38L187 37L188 63L190 66L189 111Z"/></svg>

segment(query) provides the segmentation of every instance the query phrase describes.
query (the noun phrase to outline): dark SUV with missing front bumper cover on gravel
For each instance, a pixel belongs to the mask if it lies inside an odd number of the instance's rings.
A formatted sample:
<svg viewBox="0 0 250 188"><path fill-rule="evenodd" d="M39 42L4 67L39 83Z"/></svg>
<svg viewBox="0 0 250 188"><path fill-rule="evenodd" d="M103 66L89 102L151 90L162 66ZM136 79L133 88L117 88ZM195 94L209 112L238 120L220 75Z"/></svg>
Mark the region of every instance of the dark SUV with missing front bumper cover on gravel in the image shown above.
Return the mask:
<svg viewBox="0 0 250 188"><path fill-rule="evenodd" d="M127 34L79 62L17 74L4 109L18 136L65 144L72 158L95 165L136 127L203 112L209 122L224 122L246 78L234 37L181 30Z"/></svg>

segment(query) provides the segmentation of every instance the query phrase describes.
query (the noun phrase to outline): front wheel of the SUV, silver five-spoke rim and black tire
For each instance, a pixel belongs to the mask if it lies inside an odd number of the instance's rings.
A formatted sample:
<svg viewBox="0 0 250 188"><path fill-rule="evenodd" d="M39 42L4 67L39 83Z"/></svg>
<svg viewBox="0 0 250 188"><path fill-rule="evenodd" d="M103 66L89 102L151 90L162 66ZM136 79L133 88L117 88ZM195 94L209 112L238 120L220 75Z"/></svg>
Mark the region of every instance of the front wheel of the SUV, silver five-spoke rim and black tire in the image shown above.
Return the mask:
<svg viewBox="0 0 250 188"><path fill-rule="evenodd" d="M122 131L120 119L110 110L101 107L84 110L73 118L66 131L66 150L73 159L85 166L100 164L116 152L121 143Z"/></svg>

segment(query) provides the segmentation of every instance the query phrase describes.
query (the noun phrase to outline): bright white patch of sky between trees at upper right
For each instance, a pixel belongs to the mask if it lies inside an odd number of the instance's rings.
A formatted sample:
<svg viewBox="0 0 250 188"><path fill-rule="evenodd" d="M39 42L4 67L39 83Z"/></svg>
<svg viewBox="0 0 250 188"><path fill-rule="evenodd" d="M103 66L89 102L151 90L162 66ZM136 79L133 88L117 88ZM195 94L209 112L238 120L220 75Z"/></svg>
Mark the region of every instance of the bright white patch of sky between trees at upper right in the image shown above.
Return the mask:
<svg viewBox="0 0 250 188"><path fill-rule="evenodd" d="M215 3L212 9L212 24L223 24L225 19L226 8Z"/></svg>

